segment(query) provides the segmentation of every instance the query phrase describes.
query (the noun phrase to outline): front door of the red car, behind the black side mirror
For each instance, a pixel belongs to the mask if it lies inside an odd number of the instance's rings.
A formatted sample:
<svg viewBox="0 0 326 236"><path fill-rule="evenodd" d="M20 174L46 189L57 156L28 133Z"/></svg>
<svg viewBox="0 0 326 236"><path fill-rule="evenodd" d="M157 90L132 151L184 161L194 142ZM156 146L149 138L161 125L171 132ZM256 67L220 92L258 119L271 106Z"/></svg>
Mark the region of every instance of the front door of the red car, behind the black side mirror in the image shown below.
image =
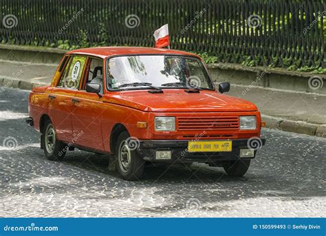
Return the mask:
<svg viewBox="0 0 326 236"><path fill-rule="evenodd" d="M72 127L74 142L94 151L104 151L102 142L102 98L98 94L86 92L86 83L99 83L103 80L102 58L89 57L83 84L75 94ZM92 82L93 81L93 82ZM96 82L94 82L96 81ZM103 82L101 83L103 90Z"/></svg>

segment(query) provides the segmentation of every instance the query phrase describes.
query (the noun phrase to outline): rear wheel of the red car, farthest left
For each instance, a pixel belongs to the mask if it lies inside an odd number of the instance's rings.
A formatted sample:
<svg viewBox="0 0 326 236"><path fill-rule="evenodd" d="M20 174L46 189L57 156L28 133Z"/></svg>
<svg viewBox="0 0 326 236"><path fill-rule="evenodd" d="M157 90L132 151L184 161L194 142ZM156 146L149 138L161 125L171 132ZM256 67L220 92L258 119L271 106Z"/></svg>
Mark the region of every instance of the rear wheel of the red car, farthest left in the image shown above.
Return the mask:
<svg viewBox="0 0 326 236"><path fill-rule="evenodd" d="M41 147L48 160L63 160L68 147L56 138L56 131L52 122L46 120L42 131Z"/></svg>

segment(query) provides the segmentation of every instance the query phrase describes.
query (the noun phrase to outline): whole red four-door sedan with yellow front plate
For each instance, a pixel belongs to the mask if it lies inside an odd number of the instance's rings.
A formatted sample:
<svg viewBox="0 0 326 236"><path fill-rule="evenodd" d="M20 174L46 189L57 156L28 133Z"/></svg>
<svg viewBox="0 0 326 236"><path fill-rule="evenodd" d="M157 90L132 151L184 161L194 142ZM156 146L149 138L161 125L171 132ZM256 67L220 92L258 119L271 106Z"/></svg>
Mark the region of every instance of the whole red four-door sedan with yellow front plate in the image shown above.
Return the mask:
<svg viewBox="0 0 326 236"><path fill-rule="evenodd" d="M126 180L146 162L205 162L232 176L265 140L257 107L227 96L195 54L146 47L67 52L51 85L34 87L26 121L49 160L74 147L109 153Z"/></svg>

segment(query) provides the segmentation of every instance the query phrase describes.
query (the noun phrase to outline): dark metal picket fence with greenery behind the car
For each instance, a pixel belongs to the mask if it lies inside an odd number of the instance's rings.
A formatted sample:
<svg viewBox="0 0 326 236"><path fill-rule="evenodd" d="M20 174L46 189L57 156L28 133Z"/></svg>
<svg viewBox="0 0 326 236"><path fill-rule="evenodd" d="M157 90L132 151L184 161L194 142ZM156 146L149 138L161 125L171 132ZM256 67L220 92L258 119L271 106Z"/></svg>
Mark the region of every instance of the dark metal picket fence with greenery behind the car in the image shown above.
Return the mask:
<svg viewBox="0 0 326 236"><path fill-rule="evenodd" d="M325 68L323 0L0 0L2 43L171 48L248 65Z"/></svg>

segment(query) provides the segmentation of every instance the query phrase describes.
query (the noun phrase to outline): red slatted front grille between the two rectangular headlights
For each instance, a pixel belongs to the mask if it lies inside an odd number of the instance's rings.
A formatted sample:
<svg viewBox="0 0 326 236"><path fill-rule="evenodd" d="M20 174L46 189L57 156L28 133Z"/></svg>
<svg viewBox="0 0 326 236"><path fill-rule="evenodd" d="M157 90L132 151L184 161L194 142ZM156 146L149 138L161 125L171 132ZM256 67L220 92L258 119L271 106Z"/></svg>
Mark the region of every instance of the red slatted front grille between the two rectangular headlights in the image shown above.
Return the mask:
<svg viewBox="0 0 326 236"><path fill-rule="evenodd" d="M235 130L239 129L237 116L178 117L178 130Z"/></svg>

